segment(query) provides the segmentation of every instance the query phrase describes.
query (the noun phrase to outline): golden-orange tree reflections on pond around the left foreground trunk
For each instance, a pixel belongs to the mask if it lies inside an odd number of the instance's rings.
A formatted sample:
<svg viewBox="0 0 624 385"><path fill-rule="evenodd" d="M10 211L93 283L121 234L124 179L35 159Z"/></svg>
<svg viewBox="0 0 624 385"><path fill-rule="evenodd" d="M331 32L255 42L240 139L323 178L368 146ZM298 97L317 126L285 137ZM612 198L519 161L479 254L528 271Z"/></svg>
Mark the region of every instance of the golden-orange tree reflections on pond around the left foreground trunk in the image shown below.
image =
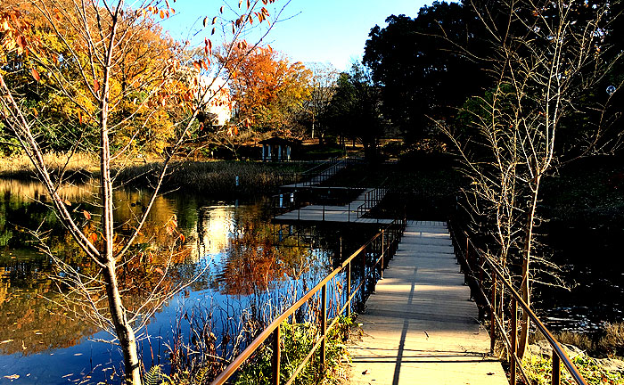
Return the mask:
<svg viewBox="0 0 624 385"><path fill-rule="evenodd" d="M82 231L97 236L99 209L88 203L94 186L68 184L61 192L73 213L82 218ZM115 219L123 236L123 229L135 225L135 218L142 212L146 198L141 192L119 190L115 193L115 200ZM97 332L86 319L76 320L77 314L86 311L81 307L84 304L71 295L62 296L59 289L64 286L58 286L50 279L58 273L54 271L51 259L37 250L45 245L46 251L60 258L72 270L83 274L97 272L98 267L86 258L70 234L58 224L46 206L47 201L41 184L0 183L0 354L29 355L47 349L67 348ZM170 259L172 267L184 263L189 256L180 233L171 231L166 225L175 213L172 202L160 197L154 206L135 249L118 265L119 286L127 293L124 305L130 311L144 305L144 299L154 285L160 284L161 293L172 287L176 274L168 274L163 279L169 256L173 257ZM90 220L84 214L85 210L92 217ZM37 240L32 230L40 226L48 230L38 233ZM104 304L106 298L103 292L96 292L97 284L94 282L92 288L93 299ZM62 304L69 304L70 308L62 309ZM146 308L152 307L148 304Z"/></svg>

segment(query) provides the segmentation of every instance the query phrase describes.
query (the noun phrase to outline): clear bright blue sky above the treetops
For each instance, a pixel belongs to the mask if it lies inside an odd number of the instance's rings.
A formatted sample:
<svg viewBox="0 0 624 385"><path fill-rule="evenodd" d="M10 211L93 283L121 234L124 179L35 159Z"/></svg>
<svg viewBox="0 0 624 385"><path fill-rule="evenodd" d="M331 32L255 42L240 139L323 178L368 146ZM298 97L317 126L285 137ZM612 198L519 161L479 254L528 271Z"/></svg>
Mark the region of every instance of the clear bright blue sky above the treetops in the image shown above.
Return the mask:
<svg viewBox="0 0 624 385"><path fill-rule="evenodd" d="M284 4L278 0L276 4ZM291 0L265 40L292 61L329 61L338 70L350 67L352 59L364 53L368 33L379 24L384 27L390 14L415 17L423 0ZM427 3L431 4L431 2ZM218 11L218 2L178 0L172 4L177 15L163 23L172 37L187 37L196 21ZM203 37L201 37L201 40Z"/></svg>

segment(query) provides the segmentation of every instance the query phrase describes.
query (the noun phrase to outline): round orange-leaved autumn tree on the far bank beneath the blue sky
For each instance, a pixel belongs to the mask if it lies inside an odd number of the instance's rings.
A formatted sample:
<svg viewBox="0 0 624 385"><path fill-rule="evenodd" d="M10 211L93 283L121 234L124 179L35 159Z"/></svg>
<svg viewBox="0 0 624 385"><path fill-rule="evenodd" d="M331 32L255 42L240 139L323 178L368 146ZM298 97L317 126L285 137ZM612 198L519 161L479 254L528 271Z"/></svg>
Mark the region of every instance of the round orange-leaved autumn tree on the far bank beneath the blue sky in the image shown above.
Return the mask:
<svg viewBox="0 0 624 385"><path fill-rule="evenodd" d="M309 97L311 71L270 46L228 44L221 52L236 58L227 62L226 56L218 54L233 94L234 119L259 131L288 135L301 102Z"/></svg>

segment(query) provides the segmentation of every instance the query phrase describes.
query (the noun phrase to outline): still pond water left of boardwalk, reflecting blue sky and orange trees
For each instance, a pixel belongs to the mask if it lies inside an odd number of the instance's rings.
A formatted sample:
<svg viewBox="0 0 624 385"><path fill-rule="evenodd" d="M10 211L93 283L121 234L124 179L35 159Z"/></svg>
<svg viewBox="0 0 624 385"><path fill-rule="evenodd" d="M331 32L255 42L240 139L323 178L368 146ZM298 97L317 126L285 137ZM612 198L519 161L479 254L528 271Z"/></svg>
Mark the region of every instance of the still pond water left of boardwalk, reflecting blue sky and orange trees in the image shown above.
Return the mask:
<svg viewBox="0 0 624 385"><path fill-rule="evenodd" d="M62 189L63 199L78 217L85 210L96 213L87 203L92 193L94 187L89 184ZM148 199L149 194L142 191L116 193L115 220L121 233L127 230L129 219L144 210ZM38 250L37 237L72 266L86 269L89 264L46 202L40 184L0 181L0 384L119 382L119 351L103 342L111 336L59 305L62 298L49 279L53 264ZM171 233L166 224L174 215L177 229ZM185 313L209 309L220 320L214 323L215 332L235 328L238 315L246 309L270 314L285 305L283 299L312 287L318 276L332 268L334 251L318 242L275 242L282 234L270 224L266 201L238 204L167 194L156 200L142 233L137 240L143 248L139 251L149 251L153 258L158 258L158 250L167 250L163 245L172 236L183 234L172 280L182 282L203 272L185 291L169 299L139 336L147 367L167 365L175 325L184 321ZM137 278L120 279L133 286ZM131 300L140 300L141 291L133 290L128 291L136 296ZM184 329L184 322L180 324Z"/></svg>

